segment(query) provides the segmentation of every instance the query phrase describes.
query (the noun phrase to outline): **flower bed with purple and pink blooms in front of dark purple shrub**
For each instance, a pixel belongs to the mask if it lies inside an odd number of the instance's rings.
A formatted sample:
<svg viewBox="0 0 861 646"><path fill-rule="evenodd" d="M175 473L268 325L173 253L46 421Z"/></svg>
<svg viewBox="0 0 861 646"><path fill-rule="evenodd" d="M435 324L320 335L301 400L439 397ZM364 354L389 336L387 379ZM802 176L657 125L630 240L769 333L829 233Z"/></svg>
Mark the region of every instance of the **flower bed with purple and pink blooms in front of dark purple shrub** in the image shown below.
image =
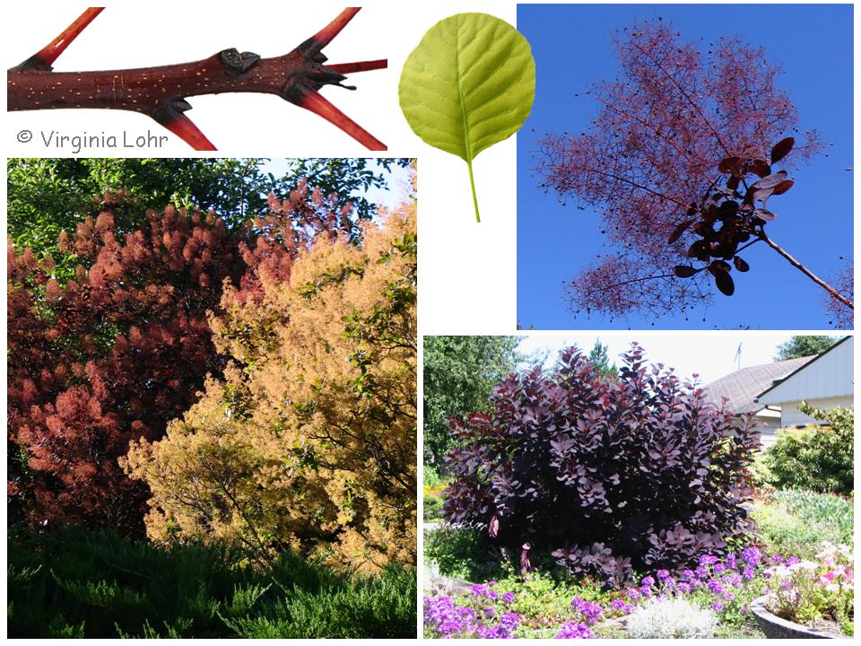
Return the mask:
<svg viewBox="0 0 861 646"><path fill-rule="evenodd" d="M540 576L522 583L489 581L473 585L467 594L425 597L425 634L442 638L624 636L619 632L628 615L669 599L685 599L708 609L719 625L740 625L752 622L753 599L770 595L776 614L792 614L808 622L831 618L842 633L851 635L851 559L847 546L824 544L816 562L766 555L758 546L748 546L723 558L705 554L695 569L658 570L623 589L601 590L581 581L575 586L578 596L570 598L567 607L559 603L564 588L553 588ZM536 602L539 594L540 603ZM718 627L713 636L726 635Z"/></svg>

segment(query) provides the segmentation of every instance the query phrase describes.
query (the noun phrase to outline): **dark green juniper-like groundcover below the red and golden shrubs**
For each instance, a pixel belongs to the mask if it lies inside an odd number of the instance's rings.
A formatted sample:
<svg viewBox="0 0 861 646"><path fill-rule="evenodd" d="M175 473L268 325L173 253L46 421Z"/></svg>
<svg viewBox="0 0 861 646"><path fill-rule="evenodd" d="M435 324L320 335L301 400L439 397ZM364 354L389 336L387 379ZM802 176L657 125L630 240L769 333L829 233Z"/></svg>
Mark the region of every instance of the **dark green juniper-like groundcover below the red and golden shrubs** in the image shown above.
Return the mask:
<svg viewBox="0 0 861 646"><path fill-rule="evenodd" d="M8 538L9 637L415 637L416 575L265 568L222 546L156 546L63 528Z"/></svg>

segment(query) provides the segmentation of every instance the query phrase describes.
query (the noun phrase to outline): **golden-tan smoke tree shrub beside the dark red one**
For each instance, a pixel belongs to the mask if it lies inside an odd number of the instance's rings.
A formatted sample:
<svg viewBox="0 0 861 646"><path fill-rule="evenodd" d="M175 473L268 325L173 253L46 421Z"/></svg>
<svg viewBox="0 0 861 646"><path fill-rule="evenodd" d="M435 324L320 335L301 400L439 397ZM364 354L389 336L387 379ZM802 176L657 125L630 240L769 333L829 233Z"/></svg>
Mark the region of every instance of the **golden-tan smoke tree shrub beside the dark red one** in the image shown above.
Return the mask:
<svg viewBox="0 0 861 646"><path fill-rule="evenodd" d="M152 491L150 537L414 563L415 231L411 201L359 245L317 241L289 281L262 262L258 284L226 287L224 380L124 463Z"/></svg>

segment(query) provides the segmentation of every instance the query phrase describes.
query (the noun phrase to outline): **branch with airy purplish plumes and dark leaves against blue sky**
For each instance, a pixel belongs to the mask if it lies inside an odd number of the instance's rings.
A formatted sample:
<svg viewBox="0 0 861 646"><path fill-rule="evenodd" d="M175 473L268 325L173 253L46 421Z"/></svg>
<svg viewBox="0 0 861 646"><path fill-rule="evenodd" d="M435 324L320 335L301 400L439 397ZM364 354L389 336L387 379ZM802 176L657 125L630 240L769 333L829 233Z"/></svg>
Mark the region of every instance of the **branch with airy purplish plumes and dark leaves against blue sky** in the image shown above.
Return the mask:
<svg viewBox="0 0 861 646"><path fill-rule="evenodd" d="M800 145L787 136L797 112L776 86L778 67L735 38L704 52L660 18L617 33L619 75L586 92L597 116L578 134L544 135L534 153L540 188L602 214L610 252L564 283L570 310L663 316L705 306L711 282L735 292L731 272L750 270L738 253L763 240L845 319L839 308L853 310L846 272L835 289L764 232L776 217L766 200L794 183L772 164L790 150L808 160L822 148L815 131Z"/></svg>

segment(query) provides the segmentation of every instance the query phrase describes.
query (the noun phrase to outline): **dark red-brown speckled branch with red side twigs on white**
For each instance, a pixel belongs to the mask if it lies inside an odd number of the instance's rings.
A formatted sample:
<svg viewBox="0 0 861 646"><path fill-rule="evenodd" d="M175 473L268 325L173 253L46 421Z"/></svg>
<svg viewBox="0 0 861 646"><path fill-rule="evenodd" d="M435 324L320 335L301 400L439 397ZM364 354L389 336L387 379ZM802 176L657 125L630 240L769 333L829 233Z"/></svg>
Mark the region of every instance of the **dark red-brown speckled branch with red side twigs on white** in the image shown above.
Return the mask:
<svg viewBox="0 0 861 646"><path fill-rule="evenodd" d="M148 115L195 150L215 150L184 112L188 97L222 92L276 94L326 118L373 151L386 145L319 94L324 85L344 85L344 74L384 69L387 60L324 65L322 49L344 30L359 7L344 9L335 20L290 53L261 58L251 52L223 49L193 63L100 72L53 72L65 48L102 11L87 9L39 53L7 73L7 109L103 108Z"/></svg>

